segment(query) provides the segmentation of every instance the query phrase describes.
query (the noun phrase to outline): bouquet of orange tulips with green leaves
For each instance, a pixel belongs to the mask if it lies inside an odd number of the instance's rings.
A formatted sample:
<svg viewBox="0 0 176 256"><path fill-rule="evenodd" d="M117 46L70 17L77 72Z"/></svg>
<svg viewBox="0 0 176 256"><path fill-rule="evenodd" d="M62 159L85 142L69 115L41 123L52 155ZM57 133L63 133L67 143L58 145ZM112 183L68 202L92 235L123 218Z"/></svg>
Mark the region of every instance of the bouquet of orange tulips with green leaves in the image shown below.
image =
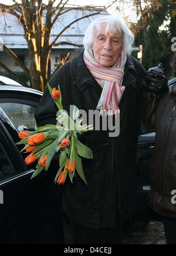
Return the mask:
<svg viewBox="0 0 176 256"><path fill-rule="evenodd" d="M79 109L76 106L73 108L74 120L63 110L60 86L58 89L52 89L48 84L48 89L60 113L56 118L59 124L35 127L35 132L20 132L19 139L21 141L17 144L25 144L22 151L30 153L25 159L27 165L38 160L32 178L42 170L47 171L53 157L58 152L59 170L56 173L55 182L59 185L63 184L69 175L70 181L73 183L73 177L77 173L87 184L83 173L82 157L92 159L93 154L89 147L80 143L77 134L88 132L93 127L87 126L87 124L82 125L83 119L79 119Z"/></svg>

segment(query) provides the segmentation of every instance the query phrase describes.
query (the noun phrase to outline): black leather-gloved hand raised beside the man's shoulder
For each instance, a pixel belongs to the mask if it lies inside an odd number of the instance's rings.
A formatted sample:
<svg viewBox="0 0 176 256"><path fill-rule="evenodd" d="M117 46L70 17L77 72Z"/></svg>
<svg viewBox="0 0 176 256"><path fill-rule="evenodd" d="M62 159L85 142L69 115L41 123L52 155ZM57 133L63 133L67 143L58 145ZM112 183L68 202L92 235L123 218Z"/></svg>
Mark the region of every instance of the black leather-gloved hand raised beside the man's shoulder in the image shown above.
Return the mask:
<svg viewBox="0 0 176 256"><path fill-rule="evenodd" d="M143 89L160 96L164 96L168 92L168 80L164 76L162 63L158 64L157 67L148 69L145 78L141 82L141 86Z"/></svg>

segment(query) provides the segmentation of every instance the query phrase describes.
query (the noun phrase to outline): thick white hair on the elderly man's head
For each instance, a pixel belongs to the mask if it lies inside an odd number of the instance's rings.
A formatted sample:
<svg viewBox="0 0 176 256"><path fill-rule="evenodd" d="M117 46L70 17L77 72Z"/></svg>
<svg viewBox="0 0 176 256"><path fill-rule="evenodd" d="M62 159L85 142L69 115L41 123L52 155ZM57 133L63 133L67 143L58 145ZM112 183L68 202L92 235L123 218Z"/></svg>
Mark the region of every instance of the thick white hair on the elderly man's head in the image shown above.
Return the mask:
<svg viewBox="0 0 176 256"><path fill-rule="evenodd" d="M96 35L97 31L101 31L101 23L107 23L106 33L119 33L119 36L123 38L122 50L126 50L126 52L130 54L133 48L134 35L127 27L124 19L114 15L105 15L90 23L83 39L84 48L87 50L92 50L94 36Z"/></svg>

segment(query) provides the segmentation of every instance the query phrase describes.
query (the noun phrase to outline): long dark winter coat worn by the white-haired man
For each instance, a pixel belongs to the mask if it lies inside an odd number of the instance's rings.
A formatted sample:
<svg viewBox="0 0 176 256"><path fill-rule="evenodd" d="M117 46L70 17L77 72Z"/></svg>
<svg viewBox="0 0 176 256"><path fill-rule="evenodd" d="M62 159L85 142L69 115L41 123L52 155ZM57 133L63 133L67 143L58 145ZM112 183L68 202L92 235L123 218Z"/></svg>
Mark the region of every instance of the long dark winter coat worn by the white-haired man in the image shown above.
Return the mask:
<svg viewBox="0 0 176 256"><path fill-rule="evenodd" d="M93 160L83 159L88 186L79 178L64 185L63 209L69 218L90 228L116 225L117 215L133 214L137 199L137 141L141 120L140 82L145 70L140 62L127 57L123 85L126 90L120 102L120 135L109 137L107 131L88 132L83 143L93 150ZM62 66L50 80L60 85L63 107L95 110L102 88L83 60L83 52ZM57 109L46 89L36 111L39 126L55 123ZM58 167L57 167L58 169Z"/></svg>

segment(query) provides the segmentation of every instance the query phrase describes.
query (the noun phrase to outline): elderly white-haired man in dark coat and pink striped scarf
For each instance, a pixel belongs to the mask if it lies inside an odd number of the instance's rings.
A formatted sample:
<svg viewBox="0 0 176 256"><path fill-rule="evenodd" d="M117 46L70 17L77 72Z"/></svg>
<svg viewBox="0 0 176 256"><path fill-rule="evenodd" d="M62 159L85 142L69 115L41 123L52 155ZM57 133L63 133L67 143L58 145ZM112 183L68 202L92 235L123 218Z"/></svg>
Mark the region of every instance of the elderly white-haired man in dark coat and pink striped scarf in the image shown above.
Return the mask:
<svg viewBox="0 0 176 256"><path fill-rule="evenodd" d="M71 221L75 244L120 244L121 220L135 210L140 82L145 69L130 56L133 42L121 19L110 15L96 19L84 36L83 52L49 82L60 85L67 112L76 105L86 113L95 109L107 116L120 113L118 137L100 129L80 138L93 150L93 161L83 159L88 185L77 176L63 188L63 210ZM55 123L56 112L46 89L36 111L38 126Z"/></svg>

